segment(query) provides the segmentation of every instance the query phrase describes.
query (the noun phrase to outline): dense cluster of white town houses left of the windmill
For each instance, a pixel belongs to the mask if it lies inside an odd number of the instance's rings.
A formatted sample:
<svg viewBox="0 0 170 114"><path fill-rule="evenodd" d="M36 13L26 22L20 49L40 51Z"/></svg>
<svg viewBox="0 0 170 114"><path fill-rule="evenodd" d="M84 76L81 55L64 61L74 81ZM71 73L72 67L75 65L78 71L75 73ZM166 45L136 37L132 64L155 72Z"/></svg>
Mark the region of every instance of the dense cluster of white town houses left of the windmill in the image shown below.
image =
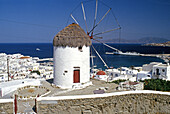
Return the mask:
<svg viewBox="0 0 170 114"><path fill-rule="evenodd" d="M22 54L0 53L0 82L25 78L53 78L53 66L41 65L38 60L38 57Z"/></svg>

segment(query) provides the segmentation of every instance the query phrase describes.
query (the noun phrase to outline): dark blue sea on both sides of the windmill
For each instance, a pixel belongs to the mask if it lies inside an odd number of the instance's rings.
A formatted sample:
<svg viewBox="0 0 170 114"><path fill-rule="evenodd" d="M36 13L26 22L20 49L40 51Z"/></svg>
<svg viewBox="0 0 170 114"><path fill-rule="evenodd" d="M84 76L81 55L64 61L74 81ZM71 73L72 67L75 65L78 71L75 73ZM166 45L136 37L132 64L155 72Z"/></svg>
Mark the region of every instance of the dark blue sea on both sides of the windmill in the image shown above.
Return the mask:
<svg viewBox="0 0 170 114"><path fill-rule="evenodd" d="M170 47L154 47L143 46L141 44L109 44L110 46L117 48L123 52L138 52L141 54L170 54ZM130 67L130 66L142 66L150 62L162 62L164 61L157 57L144 57L144 56L125 56L125 55L110 55L106 52L113 52L114 50L104 46L103 44L94 43L93 46L101 55L103 60L109 67ZM39 50L37 50L39 49ZM53 45L52 43L2 43L0 44L0 53L6 54L23 54L24 56L39 57L39 58L52 58L53 57ZM103 62L91 49L91 54L95 56L93 59L94 65L102 70L106 69Z"/></svg>

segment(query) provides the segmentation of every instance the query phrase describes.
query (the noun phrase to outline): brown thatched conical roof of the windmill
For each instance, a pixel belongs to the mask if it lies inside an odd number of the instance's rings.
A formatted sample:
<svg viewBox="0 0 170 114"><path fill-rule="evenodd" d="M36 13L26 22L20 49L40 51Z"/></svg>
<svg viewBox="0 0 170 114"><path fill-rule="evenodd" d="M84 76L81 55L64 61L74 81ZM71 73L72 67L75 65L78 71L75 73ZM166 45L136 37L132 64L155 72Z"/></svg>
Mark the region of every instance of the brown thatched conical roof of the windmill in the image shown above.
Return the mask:
<svg viewBox="0 0 170 114"><path fill-rule="evenodd" d="M53 46L83 47L90 46L91 39L78 24L70 24L53 39Z"/></svg>

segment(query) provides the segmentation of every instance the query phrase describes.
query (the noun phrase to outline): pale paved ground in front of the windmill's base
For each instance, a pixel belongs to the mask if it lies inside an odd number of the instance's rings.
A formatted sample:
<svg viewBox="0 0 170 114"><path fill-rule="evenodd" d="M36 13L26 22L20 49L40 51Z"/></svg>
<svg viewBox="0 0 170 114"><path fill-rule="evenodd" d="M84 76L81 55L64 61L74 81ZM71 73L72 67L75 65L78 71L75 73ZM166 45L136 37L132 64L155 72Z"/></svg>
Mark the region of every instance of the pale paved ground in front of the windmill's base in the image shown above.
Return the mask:
<svg viewBox="0 0 170 114"><path fill-rule="evenodd" d="M105 91L106 93L117 91L116 87L118 85L115 83L107 83L105 81L99 81L99 80L95 80L95 79L92 79L91 81L92 81L93 85L88 86L83 89L76 89L76 90L60 89L55 86L52 86L51 83L49 83L47 81L42 81L42 86L50 89L51 93L46 95L49 97L94 94L93 91L96 89L99 89L99 88L107 88L107 90Z"/></svg>

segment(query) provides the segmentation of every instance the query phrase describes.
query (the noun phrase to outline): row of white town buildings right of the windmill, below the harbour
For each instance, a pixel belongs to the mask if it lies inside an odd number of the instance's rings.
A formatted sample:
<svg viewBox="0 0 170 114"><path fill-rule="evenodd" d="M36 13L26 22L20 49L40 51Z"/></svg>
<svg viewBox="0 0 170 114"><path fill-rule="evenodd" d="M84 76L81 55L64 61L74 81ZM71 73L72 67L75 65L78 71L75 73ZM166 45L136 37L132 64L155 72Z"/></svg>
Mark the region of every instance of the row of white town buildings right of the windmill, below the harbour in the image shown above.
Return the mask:
<svg viewBox="0 0 170 114"><path fill-rule="evenodd" d="M162 64L160 62L151 62L144 64L142 67L120 67L105 70L108 79L105 81L114 80L130 80L140 81L145 79L163 79L170 80L170 65ZM97 72L96 72L97 73ZM94 75L94 74L93 74ZM96 76L93 77L98 77ZM102 78L98 78L103 80Z"/></svg>

